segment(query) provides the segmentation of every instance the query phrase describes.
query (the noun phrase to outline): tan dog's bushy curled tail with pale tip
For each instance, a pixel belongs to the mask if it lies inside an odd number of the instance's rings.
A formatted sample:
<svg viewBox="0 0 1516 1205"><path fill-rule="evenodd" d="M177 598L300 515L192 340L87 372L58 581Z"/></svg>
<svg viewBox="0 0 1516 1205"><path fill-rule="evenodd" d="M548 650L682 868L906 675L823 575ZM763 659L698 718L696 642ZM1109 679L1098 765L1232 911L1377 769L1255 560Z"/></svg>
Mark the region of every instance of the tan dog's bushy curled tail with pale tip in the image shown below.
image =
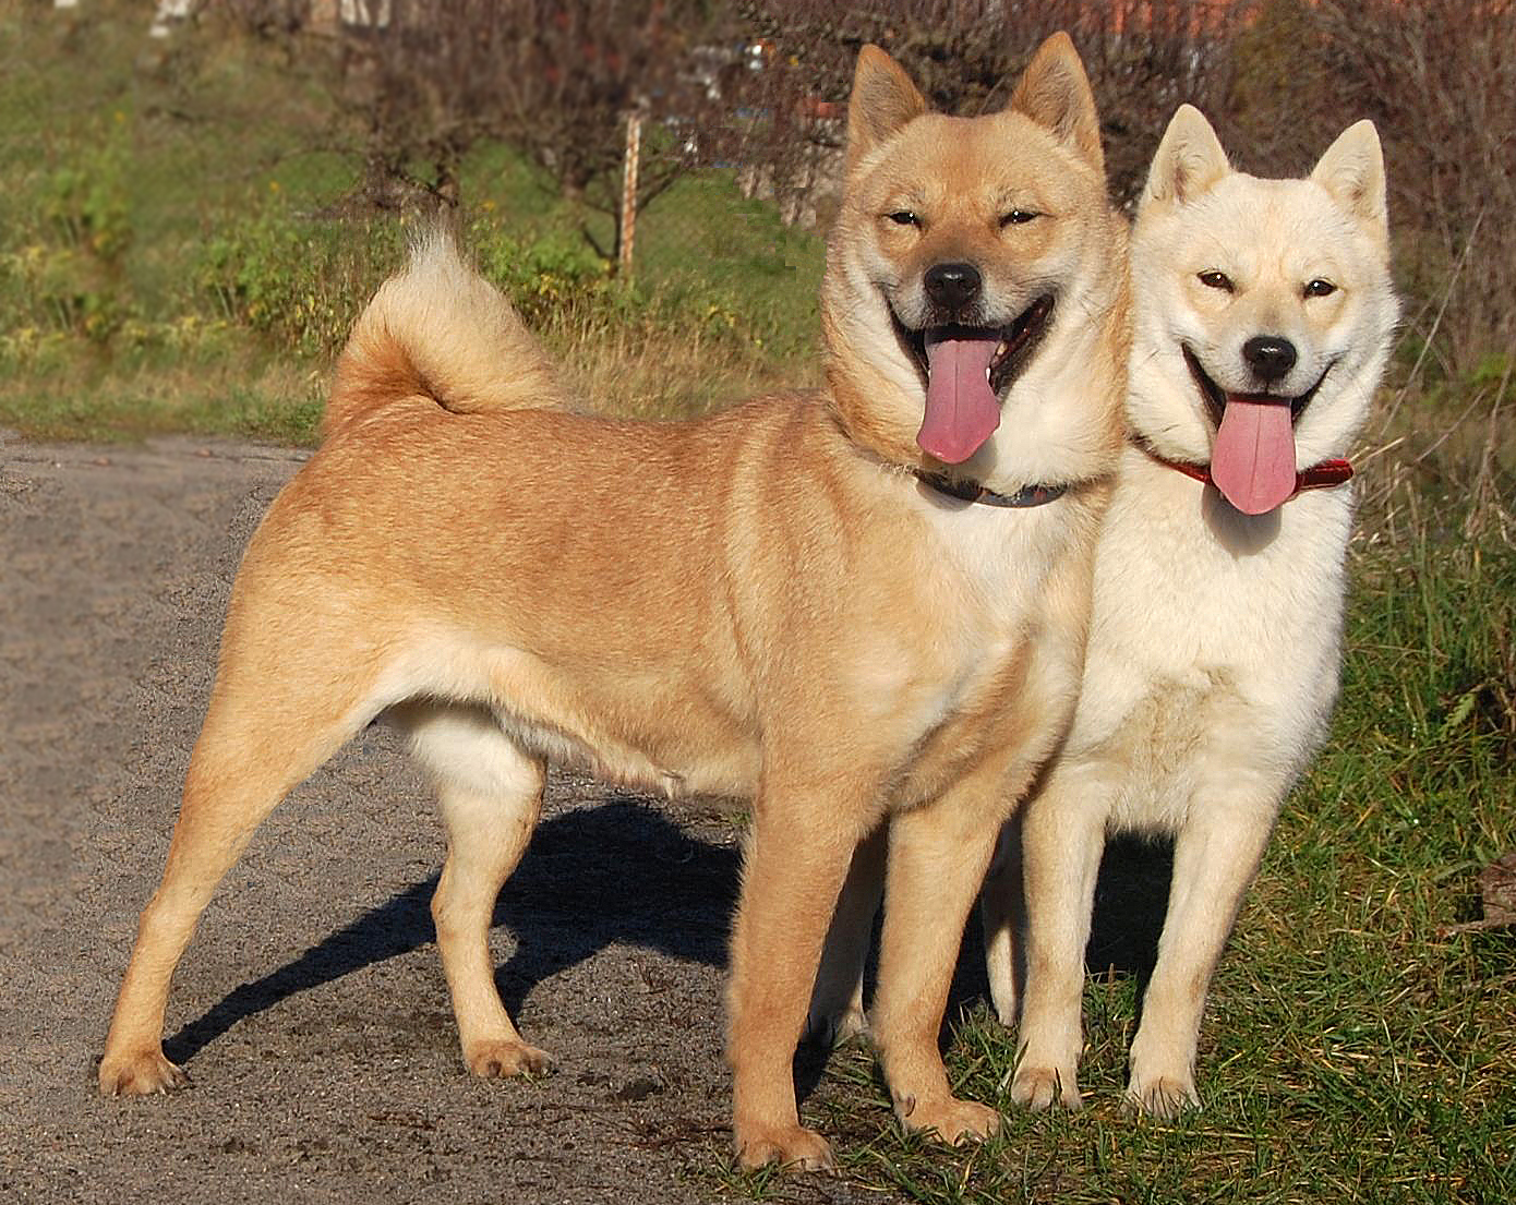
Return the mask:
<svg viewBox="0 0 1516 1205"><path fill-rule="evenodd" d="M441 227L415 239L409 262L353 324L321 433L415 397L455 414L567 402L559 371L520 315Z"/></svg>

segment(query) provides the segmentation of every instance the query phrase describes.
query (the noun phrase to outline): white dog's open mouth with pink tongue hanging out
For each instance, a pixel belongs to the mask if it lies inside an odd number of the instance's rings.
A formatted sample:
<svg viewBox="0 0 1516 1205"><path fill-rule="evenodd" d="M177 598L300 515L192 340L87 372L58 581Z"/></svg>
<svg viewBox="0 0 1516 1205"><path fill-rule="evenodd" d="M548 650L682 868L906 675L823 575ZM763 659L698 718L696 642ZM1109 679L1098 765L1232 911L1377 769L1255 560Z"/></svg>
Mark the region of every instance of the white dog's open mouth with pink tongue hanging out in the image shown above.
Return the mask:
<svg viewBox="0 0 1516 1205"><path fill-rule="evenodd" d="M1299 397L1229 394L1211 380L1189 346L1181 343L1179 347L1216 423L1211 482L1243 514L1267 514L1295 494L1295 420L1311 403L1331 364Z"/></svg>

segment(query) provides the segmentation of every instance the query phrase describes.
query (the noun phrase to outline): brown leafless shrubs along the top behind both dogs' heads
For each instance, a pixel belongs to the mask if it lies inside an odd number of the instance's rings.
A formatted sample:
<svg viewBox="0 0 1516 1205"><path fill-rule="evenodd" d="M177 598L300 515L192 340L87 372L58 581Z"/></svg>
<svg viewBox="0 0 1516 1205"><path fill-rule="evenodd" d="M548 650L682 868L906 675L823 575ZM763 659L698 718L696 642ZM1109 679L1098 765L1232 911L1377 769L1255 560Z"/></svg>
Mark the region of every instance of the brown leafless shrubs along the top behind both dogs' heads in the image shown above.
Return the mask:
<svg viewBox="0 0 1516 1205"><path fill-rule="evenodd" d="M302 0L208 0L217 6L265 32L302 20ZM1516 0L390 8L385 29L340 39L346 70L334 73L367 132L368 191L381 203L397 182L455 200L459 158L479 139L499 139L562 194L614 215L625 114L637 108L650 118L641 203L682 171L720 164L787 218L825 226L864 42L899 58L935 108L978 114L1005 103L1046 35L1069 30L1123 203L1179 102L1201 106L1239 167L1261 174L1307 170L1343 126L1372 117L1410 299L1402 368L1424 383L1474 380L1489 405L1505 399L1507 412L1516 409Z"/></svg>

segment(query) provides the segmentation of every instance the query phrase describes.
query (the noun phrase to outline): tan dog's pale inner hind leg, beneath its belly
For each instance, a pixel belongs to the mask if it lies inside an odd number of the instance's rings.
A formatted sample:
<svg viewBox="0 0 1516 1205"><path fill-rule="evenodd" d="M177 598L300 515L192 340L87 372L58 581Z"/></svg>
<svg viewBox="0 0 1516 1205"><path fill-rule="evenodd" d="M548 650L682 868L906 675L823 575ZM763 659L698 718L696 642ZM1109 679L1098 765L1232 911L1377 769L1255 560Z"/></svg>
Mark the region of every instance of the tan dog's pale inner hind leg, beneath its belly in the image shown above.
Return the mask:
<svg viewBox="0 0 1516 1205"><path fill-rule="evenodd" d="M432 772L447 828L447 862L432 896L437 947L453 997L464 1063L475 1075L546 1072L494 985L490 922L541 812L546 767L482 708L411 703L391 712Z"/></svg>

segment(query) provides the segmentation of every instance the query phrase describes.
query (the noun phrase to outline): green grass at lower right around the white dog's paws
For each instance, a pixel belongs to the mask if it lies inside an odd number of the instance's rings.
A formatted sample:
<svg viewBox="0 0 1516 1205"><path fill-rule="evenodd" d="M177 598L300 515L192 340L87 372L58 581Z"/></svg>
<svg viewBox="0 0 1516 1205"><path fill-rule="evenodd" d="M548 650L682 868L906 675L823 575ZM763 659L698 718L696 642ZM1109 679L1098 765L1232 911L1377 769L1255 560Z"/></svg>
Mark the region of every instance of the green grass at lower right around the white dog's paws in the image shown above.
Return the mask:
<svg viewBox="0 0 1516 1205"><path fill-rule="evenodd" d="M1516 1199L1516 938L1437 932L1516 849L1516 549L1366 547L1354 570L1331 741L1213 982L1204 1108L1123 1113L1135 984L1092 979L1079 1114L1010 1102L1014 1037L982 1003L955 1026L955 1087L1005 1119L982 1147L902 1134L872 1055L838 1050L805 1116L841 1175L982 1205ZM735 1187L785 1199L772 1176Z"/></svg>

